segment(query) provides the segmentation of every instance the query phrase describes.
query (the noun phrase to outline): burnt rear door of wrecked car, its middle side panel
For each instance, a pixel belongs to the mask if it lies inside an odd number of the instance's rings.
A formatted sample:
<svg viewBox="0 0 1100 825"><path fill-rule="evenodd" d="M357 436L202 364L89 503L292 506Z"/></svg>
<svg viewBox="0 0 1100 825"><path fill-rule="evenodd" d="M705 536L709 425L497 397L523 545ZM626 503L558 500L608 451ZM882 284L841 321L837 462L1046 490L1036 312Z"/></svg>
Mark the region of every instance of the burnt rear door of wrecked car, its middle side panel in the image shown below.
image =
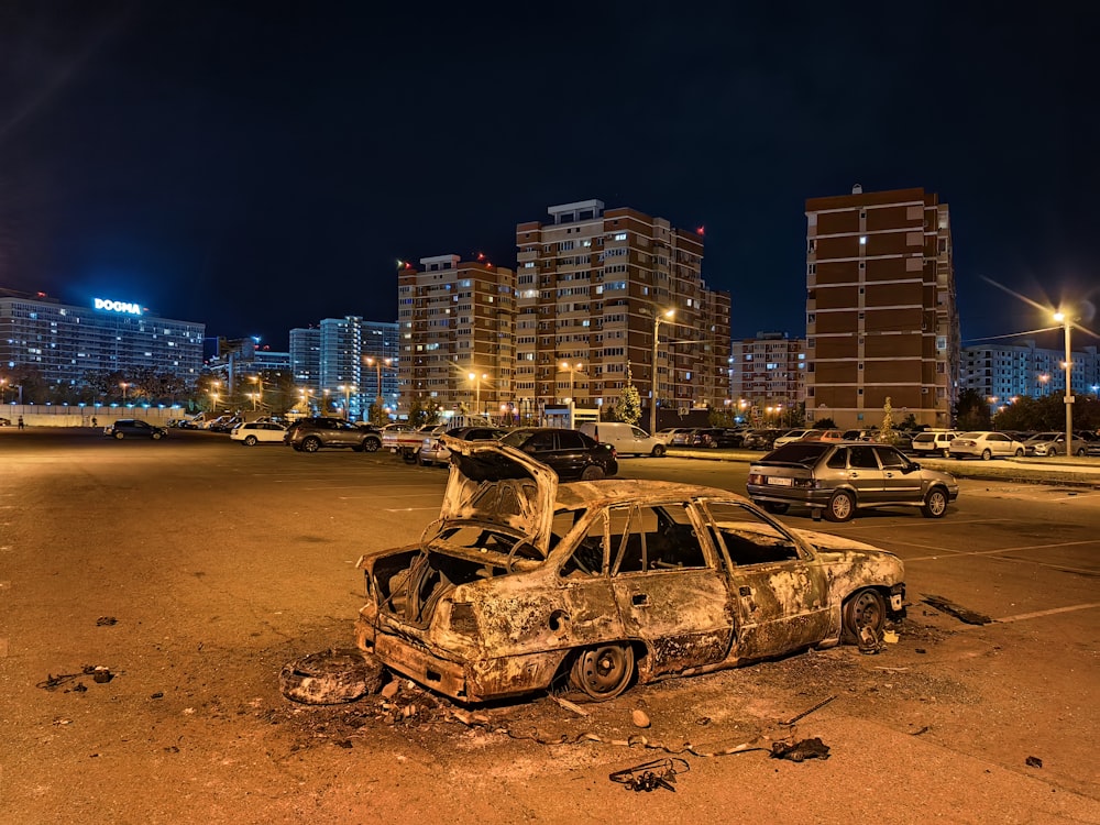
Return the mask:
<svg viewBox="0 0 1100 825"><path fill-rule="evenodd" d="M683 502L607 508L618 615L652 673L721 662L733 642L729 590L701 525Z"/></svg>

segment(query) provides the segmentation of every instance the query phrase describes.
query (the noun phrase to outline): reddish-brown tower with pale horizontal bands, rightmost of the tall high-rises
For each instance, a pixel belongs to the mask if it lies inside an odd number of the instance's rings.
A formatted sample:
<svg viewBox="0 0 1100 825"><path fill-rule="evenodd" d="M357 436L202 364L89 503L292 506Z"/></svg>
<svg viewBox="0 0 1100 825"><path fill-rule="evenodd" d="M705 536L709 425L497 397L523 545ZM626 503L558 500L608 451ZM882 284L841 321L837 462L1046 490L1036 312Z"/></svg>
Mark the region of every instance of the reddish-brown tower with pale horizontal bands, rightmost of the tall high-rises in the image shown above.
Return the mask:
<svg viewBox="0 0 1100 825"><path fill-rule="evenodd" d="M806 201L806 418L946 427L959 321L950 216L924 189Z"/></svg>

